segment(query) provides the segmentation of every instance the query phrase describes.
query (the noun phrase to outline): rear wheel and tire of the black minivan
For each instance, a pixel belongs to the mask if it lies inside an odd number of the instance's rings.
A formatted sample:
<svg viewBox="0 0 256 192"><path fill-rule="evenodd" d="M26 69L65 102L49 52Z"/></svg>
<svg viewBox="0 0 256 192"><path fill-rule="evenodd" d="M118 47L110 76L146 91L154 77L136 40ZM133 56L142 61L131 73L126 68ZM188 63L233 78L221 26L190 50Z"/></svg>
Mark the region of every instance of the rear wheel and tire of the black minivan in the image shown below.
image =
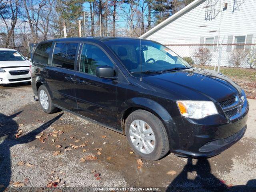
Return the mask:
<svg viewBox="0 0 256 192"><path fill-rule="evenodd" d="M41 94L43 94L44 96L42 97ZM47 96L47 97L46 97ZM53 113L56 112L58 110L58 108L56 108L53 104L52 104L52 99L50 97L50 94L46 88L46 86L41 85L38 88L38 99L39 99L39 103L42 107L42 109L44 110L44 112L46 113ZM48 100L48 105L45 102L46 100Z"/></svg>

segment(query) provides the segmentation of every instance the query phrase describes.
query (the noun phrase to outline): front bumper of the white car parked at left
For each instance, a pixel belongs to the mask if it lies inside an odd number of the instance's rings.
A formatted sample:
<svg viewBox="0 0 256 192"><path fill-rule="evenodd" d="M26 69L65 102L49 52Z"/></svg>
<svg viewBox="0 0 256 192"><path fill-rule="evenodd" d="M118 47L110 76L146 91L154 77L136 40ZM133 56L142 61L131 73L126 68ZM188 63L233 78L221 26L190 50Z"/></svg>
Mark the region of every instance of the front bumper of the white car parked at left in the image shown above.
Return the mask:
<svg viewBox="0 0 256 192"><path fill-rule="evenodd" d="M24 75L11 75L9 71L29 70L29 67L4 68L6 72L0 73L0 84L10 84L31 81L31 73Z"/></svg>

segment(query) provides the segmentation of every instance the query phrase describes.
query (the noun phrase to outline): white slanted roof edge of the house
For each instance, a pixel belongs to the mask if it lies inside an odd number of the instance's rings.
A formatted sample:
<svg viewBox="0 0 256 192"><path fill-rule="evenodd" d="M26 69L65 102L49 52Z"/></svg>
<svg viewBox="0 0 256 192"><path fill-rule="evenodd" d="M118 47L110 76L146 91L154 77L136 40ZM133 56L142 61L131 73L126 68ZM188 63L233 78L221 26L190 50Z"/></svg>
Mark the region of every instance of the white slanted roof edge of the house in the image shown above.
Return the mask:
<svg viewBox="0 0 256 192"><path fill-rule="evenodd" d="M166 26L167 24L169 24L173 20L179 18L180 16L182 16L186 12L190 11L191 9L195 8L196 6L198 6L199 4L201 4L204 1L206 1L206 0L194 0L193 2L188 4L186 7L182 8L181 10L179 10L178 12L176 12L175 14L173 14L172 16L170 16L169 18L167 18L166 20L164 20L163 22L158 24L157 26L155 26L152 29L148 30L146 33L144 33L139 38L147 38L148 36L150 36L154 32L158 31L160 28Z"/></svg>

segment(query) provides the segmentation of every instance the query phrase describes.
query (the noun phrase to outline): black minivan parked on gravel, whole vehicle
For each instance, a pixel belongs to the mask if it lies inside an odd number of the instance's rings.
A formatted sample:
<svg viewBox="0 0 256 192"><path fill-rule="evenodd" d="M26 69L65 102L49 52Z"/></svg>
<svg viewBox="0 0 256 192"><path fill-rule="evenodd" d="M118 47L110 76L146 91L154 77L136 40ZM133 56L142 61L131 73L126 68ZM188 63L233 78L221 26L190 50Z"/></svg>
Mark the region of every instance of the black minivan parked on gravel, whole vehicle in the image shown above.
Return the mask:
<svg viewBox="0 0 256 192"><path fill-rule="evenodd" d="M38 44L32 88L58 108L125 134L142 158L210 157L246 131L249 103L228 77L193 68L157 42L65 38Z"/></svg>

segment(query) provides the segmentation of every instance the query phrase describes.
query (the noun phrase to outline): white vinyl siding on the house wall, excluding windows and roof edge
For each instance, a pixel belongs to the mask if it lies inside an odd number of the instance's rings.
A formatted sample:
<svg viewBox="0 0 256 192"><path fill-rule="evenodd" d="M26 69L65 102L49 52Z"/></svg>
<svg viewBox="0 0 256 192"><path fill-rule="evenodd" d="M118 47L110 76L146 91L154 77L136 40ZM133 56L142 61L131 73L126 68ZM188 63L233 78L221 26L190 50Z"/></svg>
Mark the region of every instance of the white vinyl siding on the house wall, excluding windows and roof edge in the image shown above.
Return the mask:
<svg viewBox="0 0 256 192"><path fill-rule="evenodd" d="M212 19L209 19L208 17L206 20L206 1L202 1L168 24L155 30L151 34L148 34L145 38L165 45L198 45L206 43L206 39L208 40L208 38L214 38L213 43L215 45L211 48L211 65L218 63L220 49L217 48L217 44L234 44L237 36L246 36L245 42L248 44L256 43L256 0L244 0L239 6L239 10L234 11L234 0L222 1L221 5L220 1L216 0L215 2L217 2L215 6L215 15ZM227 7L223 10L224 4L227 4ZM223 10L221 22L220 9ZM218 40L219 28L220 38ZM196 46L169 47L182 57L192 57L197 48ZM235 49L236 46L234 45L225 45L222 47L222 66L229 66L228 56ZM244 46L245 51L249 51L250 49L250 45Z"/></svg>

